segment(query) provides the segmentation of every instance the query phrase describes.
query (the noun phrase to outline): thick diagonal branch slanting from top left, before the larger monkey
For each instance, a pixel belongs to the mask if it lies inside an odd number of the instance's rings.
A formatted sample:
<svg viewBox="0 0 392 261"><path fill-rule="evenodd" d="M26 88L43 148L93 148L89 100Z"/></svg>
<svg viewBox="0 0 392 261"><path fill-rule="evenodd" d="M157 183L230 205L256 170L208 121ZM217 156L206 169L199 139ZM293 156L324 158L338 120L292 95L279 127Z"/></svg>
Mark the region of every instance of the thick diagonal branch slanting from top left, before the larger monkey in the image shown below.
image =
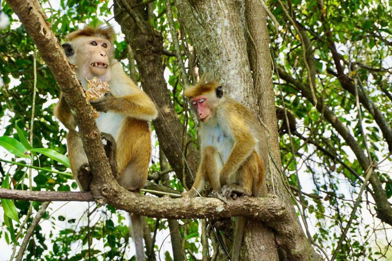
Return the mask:
<svg viewBox="0 0 392 261"><path fill-rule="evenodd" d="M78 75L70 66L63 48L45 21L38 2L35 0L9 0L8 4L37 45L43 60L53 72L69 107L74 112L73 115L79 126L83 147L93 173L91 190L96 197L99 197L100 194L97 188L94 188L94 184L103 184L99 176L101 174L111 174L111 169L90 103L79 83Z"/></svg>

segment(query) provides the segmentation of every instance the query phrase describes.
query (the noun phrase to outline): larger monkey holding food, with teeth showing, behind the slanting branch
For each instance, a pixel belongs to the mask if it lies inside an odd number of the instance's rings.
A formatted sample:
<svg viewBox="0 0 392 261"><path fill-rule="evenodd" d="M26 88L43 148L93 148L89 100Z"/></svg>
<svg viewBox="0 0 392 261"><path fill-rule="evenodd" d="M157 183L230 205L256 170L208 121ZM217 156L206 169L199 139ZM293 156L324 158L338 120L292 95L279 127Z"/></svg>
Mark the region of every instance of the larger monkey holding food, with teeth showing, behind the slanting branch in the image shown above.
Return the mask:
<svg viewBox="0 0 392 261"><path fill-rule="evenodd" d="M157 117L158 111L151 98L135 85L114 59L113 37L111 26L86 25L84 29L68 34L68 42L62 46L84 89L93 77L109 84L111 92L90 100L90 105L99 112L95 121L110 145L111 149L107 150L114 150L108 153L108 158L118 184L129 191L140 192L148 176L152 153L149 121ZM87 156L63 95L60 95L54 114L68 129L66 139L72 174L80 190L89 191L91 173ZM144 260L141 219L133 214L130 218L136 260L141 261Z"/></svg>

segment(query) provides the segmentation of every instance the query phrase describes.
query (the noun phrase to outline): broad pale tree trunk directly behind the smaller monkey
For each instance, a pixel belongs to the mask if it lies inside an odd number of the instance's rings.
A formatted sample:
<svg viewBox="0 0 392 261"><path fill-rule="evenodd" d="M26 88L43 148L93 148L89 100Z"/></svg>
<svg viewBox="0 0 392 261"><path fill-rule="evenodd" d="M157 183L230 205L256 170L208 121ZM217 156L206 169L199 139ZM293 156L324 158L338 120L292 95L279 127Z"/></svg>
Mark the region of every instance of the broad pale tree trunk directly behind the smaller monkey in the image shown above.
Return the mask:
<svg viewBox="0 0 392 261"><path fill-rule="evenodd" d="M275 95L272 84L272 65L266 13L257 0L251 1L176 1L182 20L200 59L204 73L212 74L223 85L225 93L246 105L269 130L269 147L281 167L275 115ZM283 180L273 170L275 193L285 202L290 227L297 242L283 242L273 230L254 220L247 222L241 248L241 260L308 260L309 254L318 256L310 245L296 216L290 196L283 189ZM267 174L271 182L271 174ZM271 182L272 183L272 182ZM290 246L281 251L279 246ZM279 250L279 254L278 254Z"/></svg>

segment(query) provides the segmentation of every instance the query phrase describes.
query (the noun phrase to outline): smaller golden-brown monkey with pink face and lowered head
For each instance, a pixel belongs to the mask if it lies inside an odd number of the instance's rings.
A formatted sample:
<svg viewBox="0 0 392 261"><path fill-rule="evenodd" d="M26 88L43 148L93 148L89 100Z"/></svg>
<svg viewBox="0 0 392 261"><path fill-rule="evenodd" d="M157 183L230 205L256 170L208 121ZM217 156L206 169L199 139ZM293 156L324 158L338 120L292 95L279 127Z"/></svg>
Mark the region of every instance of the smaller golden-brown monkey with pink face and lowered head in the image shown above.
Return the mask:
<svg viewBox="0 0 392 261"><path fill-rule="evenodd" d="M202 156L193 187L183 195L197 196L208 181L224 202L237 195L257 197L268 166L267 138L260 123L214 81L201 80L185 88L184 95L200 120ZM232 260L238 260L245 223L237 217Z"/></svg>

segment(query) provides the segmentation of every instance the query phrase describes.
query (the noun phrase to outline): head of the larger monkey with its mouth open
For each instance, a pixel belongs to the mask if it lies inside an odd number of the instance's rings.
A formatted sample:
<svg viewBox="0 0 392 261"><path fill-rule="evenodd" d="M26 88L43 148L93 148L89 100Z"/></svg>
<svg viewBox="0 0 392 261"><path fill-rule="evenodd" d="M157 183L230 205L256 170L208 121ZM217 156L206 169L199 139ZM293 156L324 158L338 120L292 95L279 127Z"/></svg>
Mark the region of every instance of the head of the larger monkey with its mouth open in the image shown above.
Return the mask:
<svg viewBox="0 0 392 261"><path fill-rule="evenodd" d="M110 80L110 65L113 59L113 29L111 27L89 27L72 32L64 43L69 62L77 66L80 79L97 77Z"/></svg>

